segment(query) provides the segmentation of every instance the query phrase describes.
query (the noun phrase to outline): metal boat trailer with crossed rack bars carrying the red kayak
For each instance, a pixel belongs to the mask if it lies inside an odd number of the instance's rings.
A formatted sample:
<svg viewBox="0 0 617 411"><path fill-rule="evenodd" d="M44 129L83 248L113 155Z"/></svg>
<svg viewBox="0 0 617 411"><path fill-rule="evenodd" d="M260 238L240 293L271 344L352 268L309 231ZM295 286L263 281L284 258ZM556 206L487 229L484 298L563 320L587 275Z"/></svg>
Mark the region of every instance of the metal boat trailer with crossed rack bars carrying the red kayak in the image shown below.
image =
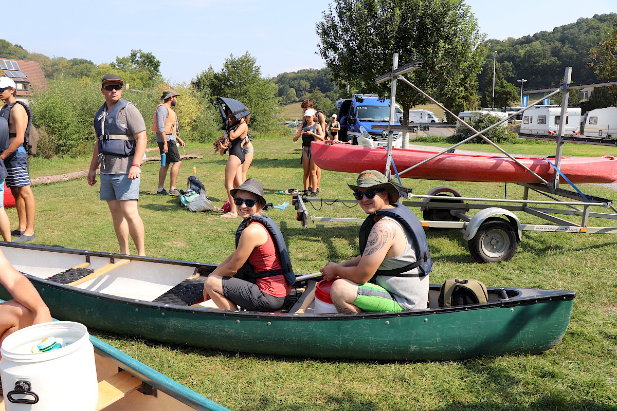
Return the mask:
<svg viewBox="0 0 617 411"><path fill-rule="evenodd" d="M557 87L543 87L539 91L544 90L553 90L547 96L542 97L542 99L537 100L532 103L528 107L523 107L518 112L512 113L507 118L504 118L498 121L492 126L488 128L477 131L465 121L458 118L457 115L450 112L447 108L441 105L437 100L433 99L433 97L424 93L407 81L402 75L407 73L408 71L416 70L422 67L421 60L416 60L415 62L409 63L404 67L398 68L398 54L394 54L394 59L392 61L392 71L387 73L386 75L379 76L375 79L375 83L382 83L384 81L391 80L391 101L395 101L396 94L396 83L397 79L400 79L411 86L416 91L420 92L424 97L431 100L434 104L437 104L439 107L444 109L445 112L449 113L453 118L456 118L463 126L466 126L471 131L474 132L473 136L468 137L467 139L458 142L451 147L442 150L439 153L436 153L432 157L427 158L426 160L421 161L403 171L399 174L406 173L413 168L416 168L420 165L423 165L427 161L433 160L433 158L439 157L440 155L451 152L451 150L455 149L459 145L468 142L475 137L480 137L489 144L493 145L504 155L509 157L511 160L515 161L518 165L532 173L539 180L538 183L513 183L517 185L521 185L524 187L523 200L501 200L497 198L471 198L471 197L462 197L456 190L451 189L450 187L436 187L430 190L427 195L416 195L412 194L410 189L407 190L406 193L402 193L403 197L406 200L402 201L405 206L417 206L420 207L420 210L423 212L423 220L421 224L426 228L434 228L434 229L460 229L465 237L465 240L468 241L469 250L471 256L478 262L497 262L497 261L507 261L513 258L516 250L518 250L518 243L521 241L522 232L523 231L544 231L544 232L569 232L569 233L583 233L583 234L614 234L617 233L617 224L615 226L609 227L589 227L589 219L590 218L602 218L602 219L610 219L617 220L617 209L613 206L613 201L608 198L595 197L592 195L586 195L582 193L579 189L577 189L574 185L573 188L576 191L565 190L559 187L559 165L561 161L561 148L564 142L578 142L582 144L586 144L585 139L580 138L579 140L572 140L569 138L563 137L563 129L565 127L565 111L567 108L568 102L568 90L569 89L580 89L586 87L589 84L570 84L571 78L571 67L566 67L565 75L564 75L564 83L561 86ZM617 84L617 79L610 79L607 81L595 82L595 85L600 86L611 86ZM556 88L556 89L555 89ZM535 89L533 89L535 91ZM522 165L520 161L516 160L516 158L512 157L509 153L499 147L497 144L492 142L491 140L484 137L482 133L488 131L489 129L495 128L505 121L510 120L510 118L514 118L516 115L523 113L525 110L528 110L531 107L534 107L537 104L540 104L542 100L546 97L553 96L558 92L563 92L562 102L561 102L561 118L559 131L557 136L554 137L553 140L557 142L557 151L555 153L555 173L553 174L552 181L546 181L542 177L538 176L536 173L531 171L526 166ZM390 172L390 164L392 162L392 134L394 131L410 131L412 128L421 127L434 127L436 126L433 123L414 123L413 126L395 126L392 124L392 118L394 118L394 105L391 105L391 113L390 113L390 124L388 126L383 126L384 131L388 132L388 144L387 144L387 160L386 160L386 177L391 179ZM433 125L431 125L433 124ZM437 125L444 126L442 124ZM408 141L407 138L404 140L404 148L407 148ZM589 143L587 143L589 144ZM593 142L592 144L598 144L598 142ZM606 145L614 145L614 144L606 144ZM567 180L567 179L566 179ZM531 200L529 199L529 191L540 193L550 200ZM558 197L563 197L569 199L571 201L560 200ZM415 199L421 199L420 201L410 201ZM472 201L472 202L468 202ZM489 202L491 204L484 204L483 201ZM356 200L342 200L338 199L323 199L323 198L306 198L301 197L299 195L294 195L292 204L295 206L297 210L297 221L302 222L303 227L309 226L309 221L332 221L332 222L362 222L364 219L357 218L333 218L333 217L318 217L313 216L307 208L307 203L326 203L331 205L333 203L354 203L357 204ZM499 206L492 203L502 203ZM531 205L537 206L531 206ZM567 206L567 208L554 208L555 206ZM553 206L553 207L551 207ZM610 208L613 213L597 213L592 212L591 207L602 207L602 208ZM466 214L467 211L470 210L480 210L478 213L474 214L474 216L468 216ZM544 219L547 222L552 224L522 224L520 219L514 214L514 211L523 212L526 214L530 214L531 216L535 216L536 218ZM557 215L553 215L557 214ZM563 218L559 216L564 216ZM574 221L566 220L566 216L570 218L580 218L580 223Z"/></svg>

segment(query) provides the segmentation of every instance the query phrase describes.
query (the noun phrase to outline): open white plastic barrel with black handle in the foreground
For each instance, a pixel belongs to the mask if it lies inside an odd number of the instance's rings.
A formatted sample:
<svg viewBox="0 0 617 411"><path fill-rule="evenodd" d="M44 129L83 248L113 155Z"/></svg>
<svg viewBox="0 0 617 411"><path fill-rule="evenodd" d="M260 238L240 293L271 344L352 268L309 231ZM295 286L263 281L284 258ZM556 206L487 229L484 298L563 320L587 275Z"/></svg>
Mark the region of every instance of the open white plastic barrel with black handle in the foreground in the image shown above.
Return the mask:
<svg viewBox="0 0 617 411"><path fill-rule="evenodd" d="M62 348L32 352L50 336ZM0 354L7 411L96 410L99 389L94 348L85 325L56 321L22 328L4 339Z"/></svg>

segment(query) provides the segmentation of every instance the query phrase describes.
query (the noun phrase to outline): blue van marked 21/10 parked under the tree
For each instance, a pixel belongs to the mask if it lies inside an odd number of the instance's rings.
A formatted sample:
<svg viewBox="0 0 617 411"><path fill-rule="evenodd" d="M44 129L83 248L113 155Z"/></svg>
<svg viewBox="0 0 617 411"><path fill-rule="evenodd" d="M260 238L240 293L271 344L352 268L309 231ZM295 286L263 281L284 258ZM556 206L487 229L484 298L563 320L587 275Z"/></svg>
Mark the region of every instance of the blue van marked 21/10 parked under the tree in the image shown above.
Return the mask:
<svg viewBox="0 0 617 411"><path fill-rule="evenodd" d="M351 141L365 147L387 147L387 131L375 130L373 125L387 126L390 120L390 100L379 100L376 94L355 94L351 99L340 99L336 102L339 110L341 131L339 140ZM399 123L402 110L395 105L394 124ZM394 132L392 147L401 148L403 133Z"/></svg>

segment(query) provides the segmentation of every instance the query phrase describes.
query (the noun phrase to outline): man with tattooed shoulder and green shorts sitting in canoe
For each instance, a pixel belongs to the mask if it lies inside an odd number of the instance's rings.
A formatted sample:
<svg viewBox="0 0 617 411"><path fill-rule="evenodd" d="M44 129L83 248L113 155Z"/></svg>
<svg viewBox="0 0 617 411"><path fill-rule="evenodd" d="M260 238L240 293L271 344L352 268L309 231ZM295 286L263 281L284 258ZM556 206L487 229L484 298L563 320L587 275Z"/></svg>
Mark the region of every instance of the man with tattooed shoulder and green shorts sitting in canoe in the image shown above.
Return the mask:
<svg viewBox="0 0 617 411"><path fill-rule="evenodd" d="M360 228L360 255L320 270L334 281L337 311L425 309L433 261L420 221L396 202L399 190L379 171L363 171L356 185L347 185L369 215Z"/></svg>

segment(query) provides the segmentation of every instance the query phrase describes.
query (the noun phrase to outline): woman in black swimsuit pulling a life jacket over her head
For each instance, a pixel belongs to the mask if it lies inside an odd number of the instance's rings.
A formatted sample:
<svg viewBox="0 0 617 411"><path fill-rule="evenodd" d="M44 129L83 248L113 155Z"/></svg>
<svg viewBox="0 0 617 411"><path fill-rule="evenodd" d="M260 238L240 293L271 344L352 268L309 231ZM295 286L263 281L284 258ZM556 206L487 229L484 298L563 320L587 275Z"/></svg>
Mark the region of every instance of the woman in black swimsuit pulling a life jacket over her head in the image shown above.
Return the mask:
<svg viewBox="0 0 617 411"><path fill-rule="evenodd" d="M248 140L247 134L249 132L249 126L247 125L247 119L250 120L250 117L242 117L239 120L234 117L230 117L228 120L230 122L230 147L229 157L227 158L227 163L225 164L225 189L227 190L227 196L230 201L230 211L229 213L225 213L222 215L222 217L226 218L238 217L238 207L233 202L233 195L231 195L231 190L238 187L238 180L242 176L242 165L246 162L246 155L244 153L244 147L242 147L242 145L244 144L245 140ZM252 153L250 153L250 156L252 161ZM238 174L240 176L238 176Z"/></svg>

